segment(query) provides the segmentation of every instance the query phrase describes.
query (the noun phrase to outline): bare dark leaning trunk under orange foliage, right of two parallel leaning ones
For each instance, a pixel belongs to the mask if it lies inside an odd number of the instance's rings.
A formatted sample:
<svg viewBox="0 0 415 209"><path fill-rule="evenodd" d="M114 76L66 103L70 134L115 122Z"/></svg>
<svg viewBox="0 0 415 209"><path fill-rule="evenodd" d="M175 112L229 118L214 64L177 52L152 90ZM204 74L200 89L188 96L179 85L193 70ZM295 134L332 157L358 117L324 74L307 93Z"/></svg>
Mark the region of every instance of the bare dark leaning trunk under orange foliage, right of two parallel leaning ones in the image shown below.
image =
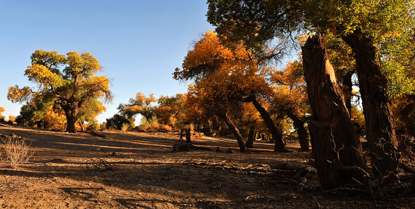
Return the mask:
<svg viewBox="0 0 415 209"><path fill-rule="evenodd" d="M271 116L268 114L265 108L262 107L262 105L258 102L256 98L251 98L251 102L254 105L254 107L258 110L259 114L261 115L262 119L264 120L266 124L266 127L269 129L269 132L271 132L272 134L272 139L275 142L274 152L287 152L287 149L283 142L282 131L276 128L274 121L272 121L271 119Z"/></svg>

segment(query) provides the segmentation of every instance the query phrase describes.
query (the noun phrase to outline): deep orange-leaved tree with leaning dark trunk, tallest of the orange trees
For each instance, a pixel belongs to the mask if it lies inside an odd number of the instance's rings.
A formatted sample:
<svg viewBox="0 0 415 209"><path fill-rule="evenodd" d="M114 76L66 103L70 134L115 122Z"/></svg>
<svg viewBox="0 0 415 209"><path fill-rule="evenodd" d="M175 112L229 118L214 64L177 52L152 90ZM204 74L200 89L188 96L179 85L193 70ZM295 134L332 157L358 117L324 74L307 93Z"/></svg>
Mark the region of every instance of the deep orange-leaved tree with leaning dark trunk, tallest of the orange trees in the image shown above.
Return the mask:
<svg viewBox="0 0 415 209"><path fill-rule="evenodd" d="M224 46L216 33L207 31L195 44L194 49L188 51L182 69L176 68L174 78L176 80L194 79L196 87L205 88L203 92L216 98L214 103L219 108L218 113L227 124L226 116L228 108L222 106L238 105L238 102L252 102L267 124L275 141L275 151L285 152L286 148L282 140L282 131L275 127L266 109L261 105L261 98L271 92L265 75L261 71L261 63L255 55L247 50L243 44ZM209 90L209 92L207 91ZM231 124L232 125L232 124ZM235 129L235 127L230 127Z"/></svg>

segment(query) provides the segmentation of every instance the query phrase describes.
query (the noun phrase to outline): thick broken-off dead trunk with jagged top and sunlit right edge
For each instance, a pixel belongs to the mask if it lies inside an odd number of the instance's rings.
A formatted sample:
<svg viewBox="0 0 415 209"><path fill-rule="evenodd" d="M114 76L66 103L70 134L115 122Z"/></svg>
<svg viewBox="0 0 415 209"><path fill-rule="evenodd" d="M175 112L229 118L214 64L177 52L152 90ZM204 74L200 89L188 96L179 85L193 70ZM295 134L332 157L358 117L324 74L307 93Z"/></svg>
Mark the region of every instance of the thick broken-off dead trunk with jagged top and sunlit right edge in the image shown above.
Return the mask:
<svg viewBox="0 0 415 209"><path fill-rule="evenodd" d="M309 129L320 184L337 188L363 180L360 173L342 166L365 168L362 146L356 134L336 74L320 35L308 38L302 47L304 76L313 112Z"/></svg>

